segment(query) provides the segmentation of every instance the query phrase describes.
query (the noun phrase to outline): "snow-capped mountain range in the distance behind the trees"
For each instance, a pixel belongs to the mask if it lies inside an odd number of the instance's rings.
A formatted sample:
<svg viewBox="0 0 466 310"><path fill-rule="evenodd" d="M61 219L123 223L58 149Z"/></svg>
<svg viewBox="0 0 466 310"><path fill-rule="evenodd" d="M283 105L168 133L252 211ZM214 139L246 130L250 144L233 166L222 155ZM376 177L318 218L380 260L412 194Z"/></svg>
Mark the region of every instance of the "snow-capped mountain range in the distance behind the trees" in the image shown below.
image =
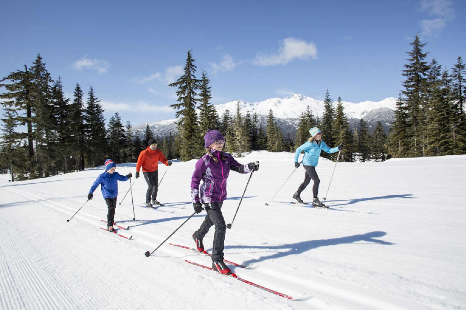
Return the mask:
<svg viewBox="0 0 466 310"><path fill-rule="evenodd" d="M377 121L384 124L385 128L391 124L393 119L393 111L395 110L397 99L386 98L382 101L363 101L360 103L352 103L343 101L344 111L348 116L351 128L357 126L359 119L365 120L369 128L373 129L377 125ZM310 97L295 94L288 98L270 98L260 102L246 102L237 100L227 102L215 106L219 117L221 117L226 110L230 111L233 116L236 113L236 106L240 105L240 112L244 116L247 112L251 115L257 113L260 123L264 123L270 111L274 112L274 117L277 119L278 124L281 126L284 133L293 136L296 130L299 117L308 107L317 118L321 118L324 111L324 102ZM334 102L336 108L336 102ZM143 138L146 125L149 125L154 135L159 138L168 136L170 132L177 132L176 119L163 120L158 122L146 122L143 124L135 125L133 127L134 133L138 133ZM370 130L372 131L372 130ZM286 136L286 135L285 135Z"/></svg>

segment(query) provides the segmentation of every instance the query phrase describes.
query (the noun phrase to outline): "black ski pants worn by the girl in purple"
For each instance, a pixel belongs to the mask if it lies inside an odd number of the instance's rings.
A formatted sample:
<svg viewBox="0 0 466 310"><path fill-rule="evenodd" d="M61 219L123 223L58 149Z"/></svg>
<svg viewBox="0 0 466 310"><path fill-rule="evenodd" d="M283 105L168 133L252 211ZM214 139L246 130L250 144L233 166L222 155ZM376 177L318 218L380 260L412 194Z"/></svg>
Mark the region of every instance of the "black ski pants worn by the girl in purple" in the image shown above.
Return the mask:
<svg viewBox="0 0 466 310"><path fill-rule="evenodd" d="M207 211L206 218L202 222L201 227L194 233L194 236L199 240L202 240L206 233L209 231L209 228L212 225L215 225L215 234L213 235L213 245L212 245L212 261L223 260L223 249L225 247L225 234L226 234L226 224L225 219L223 218L222 211L222 202L212 202L210 204L204 204L204 209Z"/></svg>

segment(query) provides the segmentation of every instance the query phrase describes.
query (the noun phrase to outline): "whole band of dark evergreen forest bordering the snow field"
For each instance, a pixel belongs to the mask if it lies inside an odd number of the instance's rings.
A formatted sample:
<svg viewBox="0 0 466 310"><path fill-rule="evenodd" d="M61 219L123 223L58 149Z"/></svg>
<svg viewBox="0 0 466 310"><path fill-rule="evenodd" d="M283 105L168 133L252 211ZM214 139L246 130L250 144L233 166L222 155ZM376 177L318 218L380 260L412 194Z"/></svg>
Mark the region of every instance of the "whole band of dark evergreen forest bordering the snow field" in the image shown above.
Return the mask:
<svg viewBox="0 0 466 310"><path fill-rule="evenodd" d="M178 132L158 137L147 125L140 139L133 136L130 121L123 125L118 112L105 123L92 86L85 97L76 84L73 98L65 98L61 77L53 80L38 54L32 66L25 65L0 81L6 90L0 94L0 170L15 181L84 170L103 165L106 158L116 163L136 162L152 138L167 158L187 161L205 154L207 129L222 132L225 151L237 157L255 150L295 152L308 140L312 127L324 132L322 139L330 147L343 145L339 153L322 152L321 156L332 160L337 156L353 162L465 154L465 64L458 57L451 72L435 59L428 64L425 45L418 36L411 43L410 58L401 73L403 90L388 135L380 122L372 133L363 119L350 128L342 98L334 102L328 90L322 118L308 107L300 115L294 136L284 136L272 110L265 125L259 125L257 114L242 115L239 104L236 111L226 110L219 116L211 103L207 73L196 78L195 59L188 51L184 74L169 85L178 96L171 105Z"/></svg>

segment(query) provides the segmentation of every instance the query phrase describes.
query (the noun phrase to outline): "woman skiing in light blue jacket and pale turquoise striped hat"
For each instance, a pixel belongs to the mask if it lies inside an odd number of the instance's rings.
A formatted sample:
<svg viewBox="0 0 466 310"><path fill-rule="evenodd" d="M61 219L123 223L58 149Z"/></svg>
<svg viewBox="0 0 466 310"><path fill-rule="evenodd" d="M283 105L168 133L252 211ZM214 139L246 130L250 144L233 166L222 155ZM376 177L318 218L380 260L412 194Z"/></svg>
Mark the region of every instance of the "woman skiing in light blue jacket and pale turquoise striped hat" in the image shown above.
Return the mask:
<svg viewBox="0 0 466 310"><path fill-rule="evenodd" d="M302 158L302 166L304 167L304 170L306 170L306 173L304 175L304 182L302 182L302 184L299 185L298 190L295 191L295 194L293 195L293 198L295 198L299 203L302 204L303 201L300 197L301 192L304 191L304 189L306 188L306 186L308 186L309 182L312 179L314 181L314 185L312 186L312 194L314 195L314 198L312 199L312 206L326 207L326 205L322 204L322 202L319 201L319 198L317 198L317 194L319 192L320 179L317 175L317 172L315 172L315 167L319 162L319 157L322 150L331 154L341 150L343 148L343 145L339 145L334 148L329 148L329 146L322 141L322 132L317 127L309 129L309 133L311 134L311 138L309 138L308 142L298 147L295 152L295 167L298 168L300 165L298 161L299 154L301 154L301 152L304 151L304 157Z"/></svg>

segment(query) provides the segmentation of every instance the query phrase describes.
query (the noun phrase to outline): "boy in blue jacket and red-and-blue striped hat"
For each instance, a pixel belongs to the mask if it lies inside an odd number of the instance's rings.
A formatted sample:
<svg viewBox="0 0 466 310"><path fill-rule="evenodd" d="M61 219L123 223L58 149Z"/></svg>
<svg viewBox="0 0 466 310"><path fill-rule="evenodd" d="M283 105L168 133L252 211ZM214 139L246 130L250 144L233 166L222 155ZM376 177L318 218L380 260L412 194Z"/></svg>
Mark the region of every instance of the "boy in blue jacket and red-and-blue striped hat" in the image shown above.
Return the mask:
<svg viewBox="0 0 466 310"><path fill-rule="evenodd" d="M118 172L115 172L115 169L117 169L117 164L115 164L113 160L107 159L105 161L105 172L99 174L96 181L94 181L94 184L90 187L88 194L88 199L92 199L94 196L93 192L100 185L102 196L109 208L109 212L107 213L107 229L110 232L115 232L115 229L113 228L115 221L113 218L115 216L115 208L117 207L117 181L128 181L132 177L131 172L126 176L122 176Z"/></svg>

